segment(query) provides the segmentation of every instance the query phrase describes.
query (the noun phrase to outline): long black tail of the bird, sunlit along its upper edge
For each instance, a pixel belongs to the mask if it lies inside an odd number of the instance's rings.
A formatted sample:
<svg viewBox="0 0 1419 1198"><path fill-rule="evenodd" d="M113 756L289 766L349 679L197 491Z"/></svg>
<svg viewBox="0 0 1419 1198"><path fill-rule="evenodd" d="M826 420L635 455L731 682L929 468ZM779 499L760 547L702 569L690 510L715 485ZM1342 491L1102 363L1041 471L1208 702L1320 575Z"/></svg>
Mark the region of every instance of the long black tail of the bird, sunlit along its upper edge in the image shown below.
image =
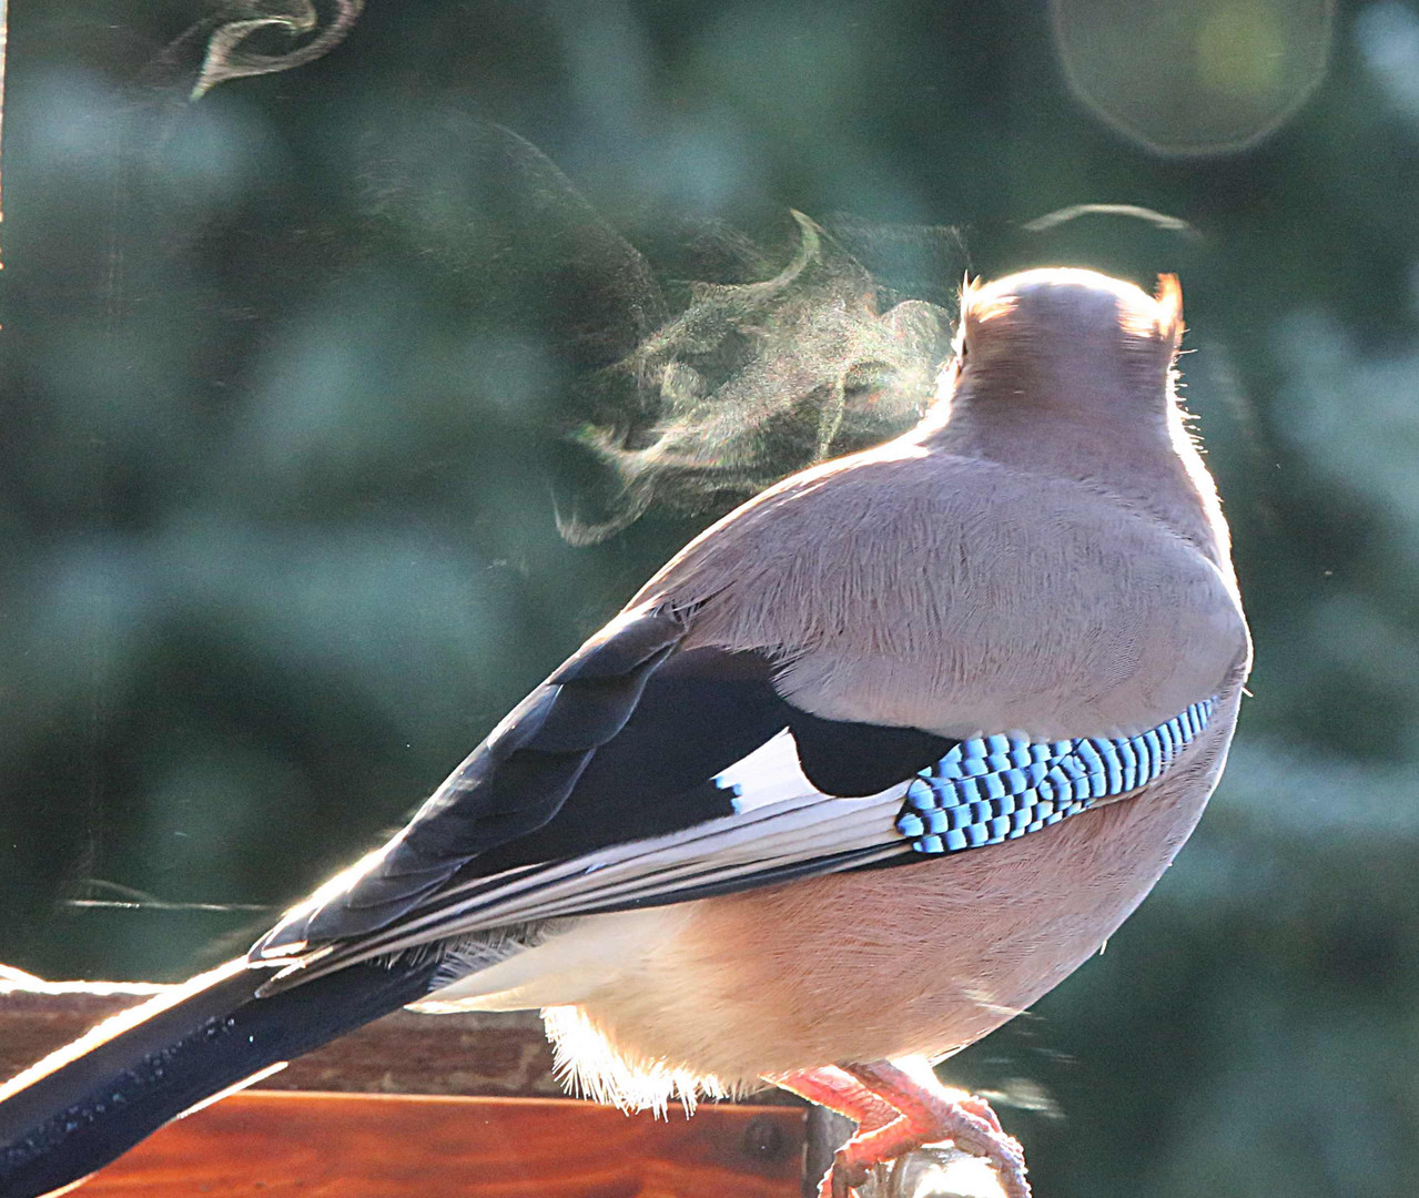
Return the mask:
<svg viewBox="0 0 1419 1198"><path fill-rule="evenodd" d="M436 967L349 965L257 998L270 971L234 961L115 1016L0 1101L0 1198L87 1177L203 1099L423 996Z"/></svg>

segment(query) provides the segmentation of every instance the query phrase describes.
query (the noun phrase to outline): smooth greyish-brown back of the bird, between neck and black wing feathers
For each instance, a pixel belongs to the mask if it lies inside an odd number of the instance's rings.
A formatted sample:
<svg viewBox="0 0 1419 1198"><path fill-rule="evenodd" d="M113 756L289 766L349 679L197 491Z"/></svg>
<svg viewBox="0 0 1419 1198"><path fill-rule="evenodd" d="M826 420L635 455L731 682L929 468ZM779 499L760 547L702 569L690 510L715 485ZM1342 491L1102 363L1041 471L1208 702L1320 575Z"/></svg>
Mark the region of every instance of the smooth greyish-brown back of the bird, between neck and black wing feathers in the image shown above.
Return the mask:
<svg viewBox="0 0 1419 1198"><path fill-rule="evenodd" d="M908 441L765 493L633 603L694 610L688 646L773 652L827 718L1103 735L1246 660L1206 549L1104 487Z"/></svg>

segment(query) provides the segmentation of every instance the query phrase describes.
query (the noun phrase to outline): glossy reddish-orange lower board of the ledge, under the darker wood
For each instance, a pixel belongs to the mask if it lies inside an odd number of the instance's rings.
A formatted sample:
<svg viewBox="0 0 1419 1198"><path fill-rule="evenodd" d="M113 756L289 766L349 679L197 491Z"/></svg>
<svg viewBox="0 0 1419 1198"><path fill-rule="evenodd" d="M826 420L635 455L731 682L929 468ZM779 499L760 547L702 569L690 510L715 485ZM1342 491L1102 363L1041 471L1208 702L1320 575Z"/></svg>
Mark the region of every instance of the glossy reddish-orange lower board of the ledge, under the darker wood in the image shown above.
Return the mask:
<svg viewBox="0 0 1419 1198"><path fill-rule="evenodd" d="M623 1116L548 1099L247 1092L169 1124L85 1198L797 1198L803 1111Z"/></svg>

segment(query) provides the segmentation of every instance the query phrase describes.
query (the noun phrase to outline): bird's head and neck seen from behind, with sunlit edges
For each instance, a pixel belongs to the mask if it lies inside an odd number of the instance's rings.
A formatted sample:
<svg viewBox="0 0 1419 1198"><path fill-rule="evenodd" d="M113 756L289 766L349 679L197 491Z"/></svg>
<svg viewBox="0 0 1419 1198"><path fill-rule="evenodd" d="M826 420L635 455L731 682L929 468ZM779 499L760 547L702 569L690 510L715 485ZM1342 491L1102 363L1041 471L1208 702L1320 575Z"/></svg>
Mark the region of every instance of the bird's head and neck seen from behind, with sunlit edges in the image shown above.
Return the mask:
<svg viewBox="0 0 1419 1198"><path fill-rule="evenodd" d="M1156 295L1059 267L968 280L956 356L910 436L1107 487L1212 545L1223 535L1216 494L1175 393L1181 339L1174 275Z"/></svg>

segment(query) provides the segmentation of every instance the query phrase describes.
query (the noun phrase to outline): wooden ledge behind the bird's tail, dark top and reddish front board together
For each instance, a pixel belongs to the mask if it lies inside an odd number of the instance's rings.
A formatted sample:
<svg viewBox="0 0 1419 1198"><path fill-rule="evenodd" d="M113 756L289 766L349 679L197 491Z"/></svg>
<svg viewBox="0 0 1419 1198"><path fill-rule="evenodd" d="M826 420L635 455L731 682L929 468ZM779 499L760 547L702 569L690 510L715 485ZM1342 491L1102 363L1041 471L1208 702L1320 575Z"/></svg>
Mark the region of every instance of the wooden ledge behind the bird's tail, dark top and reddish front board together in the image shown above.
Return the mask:
<svg viewBox="0 0 1419 1198"><path fill-rule="evenodd" d="M0 967L0 1077L165 988ZM170 1123L92 1198L797 1198L802 1106L624 1116L562 1097L542 1021L396 1012ZM291 1093L301 1092L301 1093ZM773 1092L771 1092L773 1093ZM768 1096L766 1096L768 1097Z"/></svg>

